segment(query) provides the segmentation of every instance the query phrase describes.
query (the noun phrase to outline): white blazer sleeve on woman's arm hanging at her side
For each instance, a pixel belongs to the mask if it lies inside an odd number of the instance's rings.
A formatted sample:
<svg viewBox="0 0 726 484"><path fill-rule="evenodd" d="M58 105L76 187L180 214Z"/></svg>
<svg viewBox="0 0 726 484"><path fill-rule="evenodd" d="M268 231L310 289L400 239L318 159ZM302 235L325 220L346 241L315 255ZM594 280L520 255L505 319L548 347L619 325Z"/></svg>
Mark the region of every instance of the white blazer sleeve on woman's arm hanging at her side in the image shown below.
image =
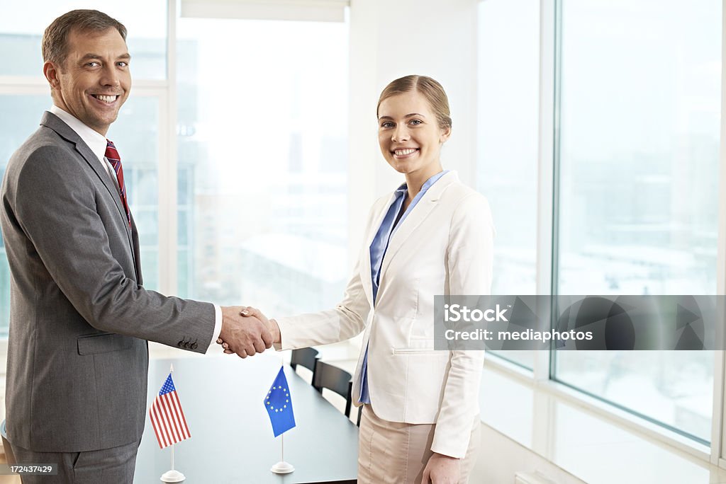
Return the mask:
<svg viewBox="0 0 726 484"><path fill-rule="evenodd" d="M492 287L494 225L484 196L473 193L454 211L447 270L452 295L485 295ZM484 351L452 351L431 450L462 458L478 414Z"/></svg>

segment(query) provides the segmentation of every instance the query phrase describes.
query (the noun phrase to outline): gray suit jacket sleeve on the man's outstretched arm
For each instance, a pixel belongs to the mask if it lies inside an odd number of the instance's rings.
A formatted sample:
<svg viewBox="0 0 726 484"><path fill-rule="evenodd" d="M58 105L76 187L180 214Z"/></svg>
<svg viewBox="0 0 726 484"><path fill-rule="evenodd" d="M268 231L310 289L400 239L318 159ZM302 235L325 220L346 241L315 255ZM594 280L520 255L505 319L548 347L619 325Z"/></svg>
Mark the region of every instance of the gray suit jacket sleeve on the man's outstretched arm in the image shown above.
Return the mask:
<svg viewBox="0 0 726 484"><path fill-rule="evenodd" d="M44 146L23 164L12 209L32 244L28 250L37 251L91 326L169 346L189 339L197 345L187 349L205 352L215 324L213 305L147 291L126 277L97 212L98 194L77 163L60 147Z"/></svg>

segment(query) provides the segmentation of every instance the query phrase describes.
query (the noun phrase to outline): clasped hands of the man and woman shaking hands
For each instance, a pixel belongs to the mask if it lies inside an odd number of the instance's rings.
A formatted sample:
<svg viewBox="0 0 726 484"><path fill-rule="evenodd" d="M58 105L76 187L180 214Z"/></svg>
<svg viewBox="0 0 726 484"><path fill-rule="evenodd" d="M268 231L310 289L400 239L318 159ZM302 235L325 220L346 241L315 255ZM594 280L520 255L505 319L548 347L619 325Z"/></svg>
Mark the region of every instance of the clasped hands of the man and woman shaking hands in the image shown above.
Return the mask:
<svg viewBox="0 0 726 484"><path fill-rule="evenodd" d="M268 320L258 309L245 306L222 308L222 327L217 344L224 353L236 353L240 358L262 353L280 343L280 327Z"/></svg>

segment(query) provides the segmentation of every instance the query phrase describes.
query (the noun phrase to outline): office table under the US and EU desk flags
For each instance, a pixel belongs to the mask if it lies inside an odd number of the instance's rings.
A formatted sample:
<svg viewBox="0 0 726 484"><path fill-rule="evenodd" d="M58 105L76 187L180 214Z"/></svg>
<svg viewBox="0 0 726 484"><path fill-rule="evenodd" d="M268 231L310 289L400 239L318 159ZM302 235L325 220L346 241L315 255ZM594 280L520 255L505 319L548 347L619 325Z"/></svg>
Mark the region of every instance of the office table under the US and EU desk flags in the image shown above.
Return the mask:
<svg viewBox="0 0 726 484"><path fill-rule="evenodd" d="M174 385L192 438L174 446L175 468L189 484L355 483L358 427L285 365L297 426L285 435L285 461L295 471L270 472L280 461L263 399L281 359L265 353L156 359L149 365L147 408L174 364ZM134 483L159 483L171 469L171 447L159 448L146 415Z"/></svg>

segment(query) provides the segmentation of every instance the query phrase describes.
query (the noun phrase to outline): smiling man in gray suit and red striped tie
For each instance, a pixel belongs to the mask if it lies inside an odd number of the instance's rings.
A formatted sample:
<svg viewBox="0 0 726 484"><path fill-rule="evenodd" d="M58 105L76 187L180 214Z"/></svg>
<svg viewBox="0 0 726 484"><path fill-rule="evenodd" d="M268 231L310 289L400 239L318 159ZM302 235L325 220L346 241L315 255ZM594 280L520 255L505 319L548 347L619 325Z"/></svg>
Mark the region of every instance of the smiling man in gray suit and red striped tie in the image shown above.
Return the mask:
<svg viewBox="0 0 726 484"><path fill-rule="evenodd" d="M54 106L9 160L0 224L11 272L7 436L23 483L131 483L144 429L148 341L245 357L272 344L242 307L142 286L121 156L105 139L129 96L126 28L95 10L43 38ZM210 416L213 417L213 416ZM216 417L216 416L214 416Z"/></svg>

